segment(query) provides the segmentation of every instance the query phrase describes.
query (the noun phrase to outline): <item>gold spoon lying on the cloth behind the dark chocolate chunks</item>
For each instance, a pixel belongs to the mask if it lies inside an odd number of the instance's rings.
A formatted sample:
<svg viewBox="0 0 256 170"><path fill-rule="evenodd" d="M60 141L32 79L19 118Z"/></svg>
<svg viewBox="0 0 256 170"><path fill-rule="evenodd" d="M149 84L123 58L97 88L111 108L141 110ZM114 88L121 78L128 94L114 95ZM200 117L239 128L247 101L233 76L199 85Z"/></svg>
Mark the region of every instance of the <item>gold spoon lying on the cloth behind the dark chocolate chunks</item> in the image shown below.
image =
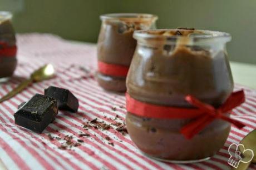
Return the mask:
<svg viewBox="0 0 256 170"><path fill-rule="evenodd" d="M45 66L43 66L43 67L37 69L35 72L33 72L29 79L27 79L26 81L23 81L21 84L19 84L18 87L14 88L11 92L6 94L6 96L3 96L0 99L0 103L15 96L16 94L21 92L24 88L26 88L27 86L29 86L29 84L31 84L33 82L41 82L43 80L52 78L54 76L54 73L55 73L55 71L54 71L52 64L46 64Z"/></svg>

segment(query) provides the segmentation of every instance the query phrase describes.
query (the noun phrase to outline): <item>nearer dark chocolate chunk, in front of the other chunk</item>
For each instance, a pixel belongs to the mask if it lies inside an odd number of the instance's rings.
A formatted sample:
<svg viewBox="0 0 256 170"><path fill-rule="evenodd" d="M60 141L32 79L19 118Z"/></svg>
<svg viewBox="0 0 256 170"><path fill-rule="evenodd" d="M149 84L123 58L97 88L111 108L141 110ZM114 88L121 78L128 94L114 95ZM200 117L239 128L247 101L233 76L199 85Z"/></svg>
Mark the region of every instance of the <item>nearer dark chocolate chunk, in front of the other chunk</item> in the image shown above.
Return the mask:
<svg viewBox="0 0 256 170"><path fill-rule="evenodd" d="M14 113L15 123L38 133L54 121L58 114L55 99L36 94Z"/></svg>

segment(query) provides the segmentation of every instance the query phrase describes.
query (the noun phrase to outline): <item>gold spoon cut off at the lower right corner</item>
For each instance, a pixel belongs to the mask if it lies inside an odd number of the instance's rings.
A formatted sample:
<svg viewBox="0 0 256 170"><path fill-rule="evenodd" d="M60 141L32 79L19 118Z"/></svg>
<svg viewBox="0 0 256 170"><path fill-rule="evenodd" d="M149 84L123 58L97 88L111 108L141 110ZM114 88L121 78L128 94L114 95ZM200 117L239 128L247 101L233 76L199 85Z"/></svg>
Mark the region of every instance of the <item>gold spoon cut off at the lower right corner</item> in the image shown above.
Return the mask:
<svg viewBox="0 0 256 170"><path fill-rule="evenodd" d="M254 157L252 161L249 161L247 163L240 162L237 168L233 168L236 170L245 170L250 166L250 163L256 163L256 129L247 134L247 136L245 136L240 143L244 145L245 149L252 149L254 152ZM240 147L239 150L242 151ZM244 157L249 156L245 154Z"/></svg>

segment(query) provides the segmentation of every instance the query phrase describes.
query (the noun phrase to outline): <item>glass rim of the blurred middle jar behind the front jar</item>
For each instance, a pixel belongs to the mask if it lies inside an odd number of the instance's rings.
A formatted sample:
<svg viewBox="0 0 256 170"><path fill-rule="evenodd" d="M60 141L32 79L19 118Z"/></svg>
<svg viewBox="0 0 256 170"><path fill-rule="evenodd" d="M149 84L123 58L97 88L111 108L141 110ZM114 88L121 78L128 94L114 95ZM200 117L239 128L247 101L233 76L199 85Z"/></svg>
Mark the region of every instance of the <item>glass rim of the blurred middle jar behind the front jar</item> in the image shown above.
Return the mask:
<svg viewBox="0 0 256 170"><path fill-rule="evenodd" d="M154 14L149 13L109 13L103 14L100 16L101 20L115 20L115 19L122 19L122 20L151 20L151 19L158 19L158 17Z"/></svg>

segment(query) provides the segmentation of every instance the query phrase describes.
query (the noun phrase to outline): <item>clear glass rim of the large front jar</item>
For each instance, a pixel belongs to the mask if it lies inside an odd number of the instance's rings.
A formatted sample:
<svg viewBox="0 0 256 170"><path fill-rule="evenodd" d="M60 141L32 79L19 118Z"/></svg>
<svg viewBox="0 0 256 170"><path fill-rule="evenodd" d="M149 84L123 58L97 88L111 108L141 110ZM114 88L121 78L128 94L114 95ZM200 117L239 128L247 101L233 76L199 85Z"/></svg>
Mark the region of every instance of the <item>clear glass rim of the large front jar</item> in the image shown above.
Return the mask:
<svg viewBox="0 0 256 170"><path fill-rule="evenodd" d="M163 35L163 34L156 34L157 32L164 32L164 31L178 31L180 29L150 29L150 30L140 30L134 32L134 38L165 38L169 41L176 41L176 39L185 37L185 36L178 36L178 35ZM227 39L227 41L231 40L231 36L227 32L220 32L220 31L210 31L210 30L203 30L203 29L195 29L195 31L201 32L201 33L191 33L188 37L189 39L193 40L199 40L199 39ZM154 34L155 33L155 34Z"/></svg>

